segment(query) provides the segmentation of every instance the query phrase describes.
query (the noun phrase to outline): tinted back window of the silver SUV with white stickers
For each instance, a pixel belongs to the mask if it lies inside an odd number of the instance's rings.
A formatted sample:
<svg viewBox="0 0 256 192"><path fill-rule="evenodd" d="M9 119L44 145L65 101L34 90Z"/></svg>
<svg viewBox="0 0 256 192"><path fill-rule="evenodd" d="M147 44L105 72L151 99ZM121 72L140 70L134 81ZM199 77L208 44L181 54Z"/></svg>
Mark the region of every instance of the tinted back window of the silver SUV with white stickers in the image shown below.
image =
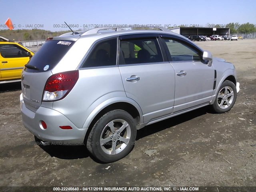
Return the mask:
<svg viewBox="0 0 256 192"><path fill-rule="evenodd" d="M36 66L38 70L26 68L25 71L38 73L51 70L58 64L74 43L74 41L69 40L46 41L28 62L29 65Z"/></svg>

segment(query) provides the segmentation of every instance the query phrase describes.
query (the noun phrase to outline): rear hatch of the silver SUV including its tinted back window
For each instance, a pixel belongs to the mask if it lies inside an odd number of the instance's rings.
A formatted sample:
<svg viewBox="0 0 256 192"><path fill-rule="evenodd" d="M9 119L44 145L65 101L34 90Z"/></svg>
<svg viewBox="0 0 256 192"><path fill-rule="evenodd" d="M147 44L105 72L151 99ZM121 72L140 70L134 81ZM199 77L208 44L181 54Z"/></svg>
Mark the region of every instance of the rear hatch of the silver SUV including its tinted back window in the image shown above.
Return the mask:
<svg viewBox="0 0 256 192"><path fill-rule="evenodd" d="M25 106L36 112L42 104L44 86L51 70L68 52L74 41L49 40L44 43L22 71L22 95Z"/></svg>

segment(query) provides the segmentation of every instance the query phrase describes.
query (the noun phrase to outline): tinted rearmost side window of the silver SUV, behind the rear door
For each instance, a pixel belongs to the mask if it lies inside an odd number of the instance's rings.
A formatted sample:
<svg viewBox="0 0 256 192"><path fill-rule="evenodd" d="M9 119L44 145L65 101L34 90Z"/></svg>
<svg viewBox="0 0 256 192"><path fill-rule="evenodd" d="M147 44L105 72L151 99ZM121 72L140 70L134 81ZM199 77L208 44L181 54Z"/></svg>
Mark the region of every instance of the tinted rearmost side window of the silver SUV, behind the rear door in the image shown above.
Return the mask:
<svg viewBox="0 0 256 192"><path fill-rule="evenodd" d="M102 40L94 45L83 67L116 65L117 39Z"/></svg>

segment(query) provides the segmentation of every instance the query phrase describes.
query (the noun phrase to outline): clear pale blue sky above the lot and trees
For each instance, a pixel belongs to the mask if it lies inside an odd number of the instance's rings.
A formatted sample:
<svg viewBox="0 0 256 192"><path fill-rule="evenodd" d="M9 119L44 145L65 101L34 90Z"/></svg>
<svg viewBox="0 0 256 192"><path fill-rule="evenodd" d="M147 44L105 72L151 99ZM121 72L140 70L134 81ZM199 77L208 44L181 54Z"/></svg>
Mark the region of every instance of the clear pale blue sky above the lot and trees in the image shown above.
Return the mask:
<svg viewBox="0 0 256 192"><path fill-rule="evenodd" d="M255 0L0 0L0 28L8 18L16 29L73 30L113 25L256 24ZM212 27L212 26L210 26Z"/></svg>

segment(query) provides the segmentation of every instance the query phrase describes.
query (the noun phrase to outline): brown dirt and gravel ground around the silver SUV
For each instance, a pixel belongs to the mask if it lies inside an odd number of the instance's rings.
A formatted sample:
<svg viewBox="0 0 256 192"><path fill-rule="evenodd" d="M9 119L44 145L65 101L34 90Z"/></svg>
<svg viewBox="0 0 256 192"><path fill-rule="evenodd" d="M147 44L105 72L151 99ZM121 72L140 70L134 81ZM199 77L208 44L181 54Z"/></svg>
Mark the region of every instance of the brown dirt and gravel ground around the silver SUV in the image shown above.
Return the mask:
<svg viewBox="0 0 256 192"><path fill-rule="evenodd" d="M146 126L111 164L84 146L38 146L22 125L20 83L1 84L0 186L256 186L256 40L196 44L236 66L232 110L201 108Z"/></svg>

